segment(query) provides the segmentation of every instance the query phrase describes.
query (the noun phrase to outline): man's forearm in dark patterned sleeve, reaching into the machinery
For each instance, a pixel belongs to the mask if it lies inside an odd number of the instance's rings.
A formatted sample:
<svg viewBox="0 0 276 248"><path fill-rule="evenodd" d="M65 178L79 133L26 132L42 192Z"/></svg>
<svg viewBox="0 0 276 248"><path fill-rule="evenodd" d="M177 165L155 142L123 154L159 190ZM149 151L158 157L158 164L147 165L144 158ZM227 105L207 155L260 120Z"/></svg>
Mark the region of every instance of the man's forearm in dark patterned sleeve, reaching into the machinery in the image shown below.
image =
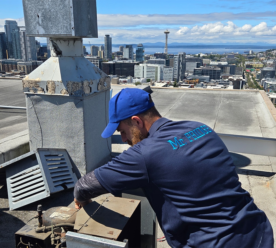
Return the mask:
<svg viewBox="0 0 276 248"><path fill-rule="evenodd" d="M108 193L108 191L101 186L98 179L95 177L94 171L91 171L76 182L74 188L75 208L79 209L80 206L85 206L91 202L91 198L106 193Z"/></svg>

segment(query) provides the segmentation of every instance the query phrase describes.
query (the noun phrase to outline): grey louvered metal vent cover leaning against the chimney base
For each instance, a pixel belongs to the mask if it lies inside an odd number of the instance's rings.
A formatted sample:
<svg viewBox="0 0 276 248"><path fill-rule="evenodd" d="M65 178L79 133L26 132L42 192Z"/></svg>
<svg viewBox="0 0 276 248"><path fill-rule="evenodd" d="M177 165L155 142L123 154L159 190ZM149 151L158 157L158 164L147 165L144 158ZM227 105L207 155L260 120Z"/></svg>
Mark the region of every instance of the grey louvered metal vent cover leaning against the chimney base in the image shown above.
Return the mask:
<svg viewBox="0 0 276 248"><path fill-rule="evenodd" d="M77 181L65 149L38 148L1 166L6 166L10 210L72 188Z"/></svg>

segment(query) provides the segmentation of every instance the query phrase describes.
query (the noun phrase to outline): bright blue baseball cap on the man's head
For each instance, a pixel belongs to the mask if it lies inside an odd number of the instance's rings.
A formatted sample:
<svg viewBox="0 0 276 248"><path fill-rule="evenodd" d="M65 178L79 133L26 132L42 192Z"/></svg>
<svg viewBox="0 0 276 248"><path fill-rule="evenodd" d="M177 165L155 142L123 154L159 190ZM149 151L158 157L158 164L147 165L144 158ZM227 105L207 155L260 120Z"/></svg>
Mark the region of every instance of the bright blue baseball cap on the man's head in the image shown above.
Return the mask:
<svg viewBox="0 0 276 248"><path fill-rule="evenodd" d="M109 123L101 137L110 137L120 121L141 114L154 106L150 93L137 88L124 88L109 101Z"/></svg>

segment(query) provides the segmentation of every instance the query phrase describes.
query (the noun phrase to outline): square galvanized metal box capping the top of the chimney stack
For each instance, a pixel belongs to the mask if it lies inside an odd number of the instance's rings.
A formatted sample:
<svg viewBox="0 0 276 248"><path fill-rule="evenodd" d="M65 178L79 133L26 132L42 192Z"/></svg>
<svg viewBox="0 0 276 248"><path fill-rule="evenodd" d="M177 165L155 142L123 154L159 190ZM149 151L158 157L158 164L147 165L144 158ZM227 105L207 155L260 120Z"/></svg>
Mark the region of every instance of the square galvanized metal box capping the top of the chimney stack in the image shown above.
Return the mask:
<svg viewBox="0 0 276 248"><path fill-rule="evenodd" d="M24 0L26 34L98 38L96 0Z"/></svg>

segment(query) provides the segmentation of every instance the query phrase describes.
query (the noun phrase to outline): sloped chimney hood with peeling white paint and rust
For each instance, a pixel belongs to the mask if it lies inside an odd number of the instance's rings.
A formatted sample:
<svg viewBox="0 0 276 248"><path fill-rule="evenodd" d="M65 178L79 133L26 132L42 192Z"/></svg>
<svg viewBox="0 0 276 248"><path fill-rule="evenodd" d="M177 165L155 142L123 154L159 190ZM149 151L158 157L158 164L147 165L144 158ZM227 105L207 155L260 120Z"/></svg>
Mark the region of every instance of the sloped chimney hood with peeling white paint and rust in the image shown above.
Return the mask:
<svg viewBox="0 0 276 248"><path fill-rule="evenodd" d="M81 56L51 57L36 70L22 80L23 92L83 97L110 88L110 77Z"/></svg>

